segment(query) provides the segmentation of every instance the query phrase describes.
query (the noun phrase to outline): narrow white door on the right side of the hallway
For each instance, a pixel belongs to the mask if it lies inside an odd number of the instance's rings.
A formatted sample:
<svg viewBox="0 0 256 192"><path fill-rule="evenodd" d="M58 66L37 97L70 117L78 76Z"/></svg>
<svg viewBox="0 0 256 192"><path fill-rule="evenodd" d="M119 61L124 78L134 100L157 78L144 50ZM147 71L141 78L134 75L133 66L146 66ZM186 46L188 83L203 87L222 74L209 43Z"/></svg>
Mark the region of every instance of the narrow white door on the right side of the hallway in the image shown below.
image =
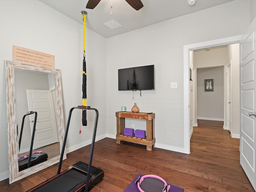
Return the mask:
<svg viewBox="0 0 256 192"><path fill-rule="evenodd" d="M231 109L231 63L228 65L228 130L231 133L232 109Z"/></svg>

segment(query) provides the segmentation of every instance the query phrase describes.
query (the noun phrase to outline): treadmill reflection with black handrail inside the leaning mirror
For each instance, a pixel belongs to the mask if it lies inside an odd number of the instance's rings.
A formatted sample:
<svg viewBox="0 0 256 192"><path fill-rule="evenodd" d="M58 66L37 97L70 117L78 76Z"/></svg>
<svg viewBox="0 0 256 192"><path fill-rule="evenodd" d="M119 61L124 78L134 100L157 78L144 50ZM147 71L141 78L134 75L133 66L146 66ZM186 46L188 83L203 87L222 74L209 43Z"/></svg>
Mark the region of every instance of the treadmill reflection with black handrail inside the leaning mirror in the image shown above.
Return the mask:
<svg viewBox="0 0 256 192"><path fill-rule="evenodd" d="M23 116L22 125L21 125L21 129L20 129L19 150L20 150L20 143L21 143L21 139L22 139L24 120L25 120L26 116L31 115L31 114L35 114L35 117L34 117L34 126L33 126L33 130L32 130L30 151L29 151L28 155L25 155L24 157L19 157L18 158L19 171L22 171L22 170L24 170L26 168L29 168L31 166L34 166L36 164L47 161L47 158L48 158L48 155L46 153L42 153L42 151L32 153L33 144L34 144L34 136L35 136L35 132L36 132L36 119L37 119L37 112L36 111L29 111Z"/></svg>

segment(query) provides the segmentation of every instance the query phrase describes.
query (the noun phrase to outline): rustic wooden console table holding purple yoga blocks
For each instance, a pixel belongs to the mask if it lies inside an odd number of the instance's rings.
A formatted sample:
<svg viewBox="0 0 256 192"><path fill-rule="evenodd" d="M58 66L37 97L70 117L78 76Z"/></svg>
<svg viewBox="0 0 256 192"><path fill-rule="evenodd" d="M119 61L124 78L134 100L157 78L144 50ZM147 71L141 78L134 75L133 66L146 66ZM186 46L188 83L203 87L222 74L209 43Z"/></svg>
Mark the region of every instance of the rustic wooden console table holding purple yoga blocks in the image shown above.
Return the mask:
<svg viewBox="0 0 256 192"><path fill-rule="evenodd" d="M146 120L146 138L138 138L135 136L124 135L125 118ZM116 112L116 143L120 141L128 141L147 146L147 150L151 151L156 142L155 138L155 114L133 113L133 112Z"/></svg>

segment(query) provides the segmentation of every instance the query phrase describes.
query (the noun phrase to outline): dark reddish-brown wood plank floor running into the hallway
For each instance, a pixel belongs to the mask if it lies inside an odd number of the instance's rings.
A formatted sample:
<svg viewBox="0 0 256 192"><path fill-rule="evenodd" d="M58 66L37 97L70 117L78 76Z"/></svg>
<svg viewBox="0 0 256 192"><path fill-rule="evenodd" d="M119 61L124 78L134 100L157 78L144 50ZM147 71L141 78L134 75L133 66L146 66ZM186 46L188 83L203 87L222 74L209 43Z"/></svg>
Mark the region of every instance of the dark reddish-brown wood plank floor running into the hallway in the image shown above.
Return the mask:
<svg viewBox="0 0 256 192"><path fill-rule="evenodd" d="M209 125L209 127L207 127ZM200 126L200 127L199 127ZM223 123L222 123L223 126ZM122 192L138 174L155 174L184 192L252 192L239 163L239 139L214 122L198 122L191 138L190 154L104 138L95 144L93 166L104 170L104 178L91 192ZM157 140L157 138L156 138ZM82 160L88 162L90 146L67 154L62 169ZM13 184L0 182L0 191L24 192L54 176L58 164Z"/></svg>

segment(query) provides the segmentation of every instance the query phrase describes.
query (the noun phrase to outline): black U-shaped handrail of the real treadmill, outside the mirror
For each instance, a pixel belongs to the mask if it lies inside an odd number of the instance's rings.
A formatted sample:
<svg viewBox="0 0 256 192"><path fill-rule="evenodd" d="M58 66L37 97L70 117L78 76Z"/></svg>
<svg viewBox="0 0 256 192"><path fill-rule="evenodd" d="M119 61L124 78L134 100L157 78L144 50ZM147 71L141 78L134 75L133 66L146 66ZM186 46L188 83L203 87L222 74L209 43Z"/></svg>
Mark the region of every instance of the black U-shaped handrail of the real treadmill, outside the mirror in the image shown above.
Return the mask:
<svg viewBox="0 0 256 192"><path fill-rule="evenodd" d="M68 115L68 122L67 122L67 126L66 126L66 131L65 131L65 135L64 135L64 140L63 140L63 145L62 145L62 150L60 153L60 162L59 162L59 166L58 166L58 172L57 175L60 174L60 170L61 170L61 166L62 166L62 160L63 160L63 156L64 156L64 150L65 150L65 146L66 146L66 140L67 140L67 136L68 136L68 129L69 129L69 124L70 124L70 119L71 119L71 115L72 115L72 111L74 109L82 109L82 110L94 110L96 112L96 117L95 117L95 122L94 122L94 131L93 131L93 136L92 136L92 146L91 146L91 151L90 151L90 158L89 158L89 164L88 164L88 172L87 172L87 176L86 176L86 185L85 185L85 192L88 191L88 182L89 182L89 178L90 178L90 170L91 170L91 166L92 166L92 156L93 156L93 151L94 151L94 143L95 143L95 138L96 138L96 130L97 130L97 124L98 124L98 117L99 117L99 112L97 109L95 108L91 108L90 106L77 106L77 107L72 107L69 111L69 115Z"/></svg>

